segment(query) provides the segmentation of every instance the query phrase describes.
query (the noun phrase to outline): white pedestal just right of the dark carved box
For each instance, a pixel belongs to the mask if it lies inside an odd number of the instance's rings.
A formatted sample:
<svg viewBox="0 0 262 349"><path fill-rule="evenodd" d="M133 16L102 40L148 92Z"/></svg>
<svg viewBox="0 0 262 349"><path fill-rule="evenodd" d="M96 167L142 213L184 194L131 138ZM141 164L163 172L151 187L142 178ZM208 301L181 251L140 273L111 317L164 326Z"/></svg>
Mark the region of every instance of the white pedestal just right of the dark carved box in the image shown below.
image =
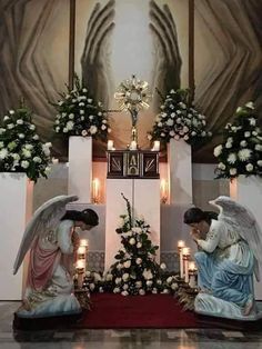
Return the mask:
<svg viewBox="0 0 262 349"><path fill-rule="evenodd" d="M191 146L171 139L168 144L170 203L192 203Z"/></svg>

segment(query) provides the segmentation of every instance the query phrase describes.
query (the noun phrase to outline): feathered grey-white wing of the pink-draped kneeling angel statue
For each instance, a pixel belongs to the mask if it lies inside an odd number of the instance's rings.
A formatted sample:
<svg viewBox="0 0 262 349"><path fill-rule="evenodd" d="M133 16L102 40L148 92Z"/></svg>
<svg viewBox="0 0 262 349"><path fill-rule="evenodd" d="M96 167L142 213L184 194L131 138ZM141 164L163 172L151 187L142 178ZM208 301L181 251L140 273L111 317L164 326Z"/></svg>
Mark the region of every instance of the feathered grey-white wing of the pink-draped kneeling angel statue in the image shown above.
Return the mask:
<svg viewBox="0 0 262 349"><path fill-rule="evenodd" d="M77 201L77 196L58 196L40 206L33 213L29 221L22 241L20 243L18 255L13 265L13 275L18 272L23 258L30 249L34 238L44 231L54 229L60 219L66 213L66 205L72 201Z"/></svg>

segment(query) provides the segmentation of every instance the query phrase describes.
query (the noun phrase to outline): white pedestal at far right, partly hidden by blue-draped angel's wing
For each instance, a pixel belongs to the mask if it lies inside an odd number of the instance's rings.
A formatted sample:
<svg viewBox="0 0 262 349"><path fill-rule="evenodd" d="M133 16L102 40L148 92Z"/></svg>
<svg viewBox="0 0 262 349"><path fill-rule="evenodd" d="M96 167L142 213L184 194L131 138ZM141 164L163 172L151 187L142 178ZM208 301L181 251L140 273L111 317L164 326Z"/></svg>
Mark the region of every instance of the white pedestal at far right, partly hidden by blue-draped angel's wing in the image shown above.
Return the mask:
<svg viewBox="0 0 262 349"><path fill-rule="evenodd" d="M230 183L230 196L250 209L262 230L262 179L254 176L239 176ZM255 299L258 300L262 300L262 266L260 266L260 282L254 282Z"/></svg>

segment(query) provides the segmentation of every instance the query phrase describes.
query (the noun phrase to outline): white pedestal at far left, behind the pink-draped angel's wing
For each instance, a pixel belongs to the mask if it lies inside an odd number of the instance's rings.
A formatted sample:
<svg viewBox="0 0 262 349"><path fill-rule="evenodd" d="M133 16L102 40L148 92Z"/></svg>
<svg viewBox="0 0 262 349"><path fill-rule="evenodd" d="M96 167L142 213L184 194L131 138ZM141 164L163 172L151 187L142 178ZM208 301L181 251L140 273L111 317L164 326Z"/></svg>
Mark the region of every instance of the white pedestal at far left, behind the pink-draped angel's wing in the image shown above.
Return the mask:
<svg viewBox="0 0 262 349"><path fill-rule="evenodd" d="M20 300L23 268L12 275L23 231L32 212L33 182L24 173L0 173L0 300Z"/></svg>

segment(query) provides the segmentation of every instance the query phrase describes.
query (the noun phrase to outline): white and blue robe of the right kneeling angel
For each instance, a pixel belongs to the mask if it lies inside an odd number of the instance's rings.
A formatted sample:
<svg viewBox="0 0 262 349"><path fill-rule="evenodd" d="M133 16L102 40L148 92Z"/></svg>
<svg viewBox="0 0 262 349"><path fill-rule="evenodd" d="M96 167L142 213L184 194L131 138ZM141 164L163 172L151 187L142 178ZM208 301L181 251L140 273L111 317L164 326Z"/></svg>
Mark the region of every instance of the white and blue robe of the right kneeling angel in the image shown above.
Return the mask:
<svg viewBox="0 0 262 349"><path fill-rule="evenodd" d="M253 298L254 256L246 241L225 222L212 220L206 239L196 240L199 286L240 307Z"/></svg>

